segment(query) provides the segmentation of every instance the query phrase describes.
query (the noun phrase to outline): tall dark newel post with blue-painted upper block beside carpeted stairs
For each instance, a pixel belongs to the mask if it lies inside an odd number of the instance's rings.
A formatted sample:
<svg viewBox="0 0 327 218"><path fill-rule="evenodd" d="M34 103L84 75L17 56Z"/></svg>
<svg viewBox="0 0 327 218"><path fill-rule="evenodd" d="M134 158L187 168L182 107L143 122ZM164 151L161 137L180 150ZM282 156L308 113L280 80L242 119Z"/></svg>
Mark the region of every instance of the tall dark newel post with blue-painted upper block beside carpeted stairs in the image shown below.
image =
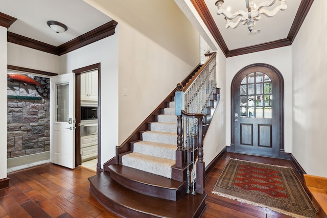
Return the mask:
<svg viewBox="0 0 327 218"><path fill-rule="evenodd" d="M183 119L182 110L184 109L184 92L183 85L177 84L177 91L175 92L175 114L177 116L177 150L176 150L176 167L184 165L183 153Z"/></svg>

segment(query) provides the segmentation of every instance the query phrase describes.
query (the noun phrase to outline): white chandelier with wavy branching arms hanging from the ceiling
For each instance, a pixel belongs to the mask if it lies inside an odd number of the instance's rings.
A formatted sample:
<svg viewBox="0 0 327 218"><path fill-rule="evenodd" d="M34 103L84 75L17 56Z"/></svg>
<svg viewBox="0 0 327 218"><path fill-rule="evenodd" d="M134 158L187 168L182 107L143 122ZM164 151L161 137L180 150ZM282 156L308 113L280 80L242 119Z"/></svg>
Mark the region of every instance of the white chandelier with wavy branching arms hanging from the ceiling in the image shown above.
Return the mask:
<svg viewBox="0 0 327 218"><path fill-rule="evenodd" d="M245 0L247 11L237 11L235 13L229 13L229 10L222 9L222 5L224 3L223 0L218 0L216 2L216 6L218 7L217 14L223 14L226 20L226 28L237 28L239 24L242 22L243 25L247 25L249 32L251 33L253 28L255 27L255 21L260 20L261 14L264 14L267 17L274 16L279 10L284 11L287 8L286 0L279 0L281 5L278 5L271 11L268 11L264 7L271 7L276 0L268 0L263 1L258 6L253 3L253 0ZM235 22L231 22L231 20L240 16Z"/></svg>

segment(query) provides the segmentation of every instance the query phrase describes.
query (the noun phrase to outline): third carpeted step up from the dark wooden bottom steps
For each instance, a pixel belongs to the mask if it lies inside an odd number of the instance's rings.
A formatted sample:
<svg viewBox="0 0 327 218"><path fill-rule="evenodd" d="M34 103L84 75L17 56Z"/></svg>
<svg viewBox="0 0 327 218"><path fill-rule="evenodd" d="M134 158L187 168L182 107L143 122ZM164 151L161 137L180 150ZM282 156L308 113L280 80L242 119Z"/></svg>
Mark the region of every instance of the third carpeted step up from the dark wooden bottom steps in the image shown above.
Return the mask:
<svg viewBox="0 0 327 218"><path fill-rule="evenodd" d="M142 140L153 141L164 144L176 144L177 145L177 133L170 132L158 132L158 131L145 131L142 132Z"/></svg>

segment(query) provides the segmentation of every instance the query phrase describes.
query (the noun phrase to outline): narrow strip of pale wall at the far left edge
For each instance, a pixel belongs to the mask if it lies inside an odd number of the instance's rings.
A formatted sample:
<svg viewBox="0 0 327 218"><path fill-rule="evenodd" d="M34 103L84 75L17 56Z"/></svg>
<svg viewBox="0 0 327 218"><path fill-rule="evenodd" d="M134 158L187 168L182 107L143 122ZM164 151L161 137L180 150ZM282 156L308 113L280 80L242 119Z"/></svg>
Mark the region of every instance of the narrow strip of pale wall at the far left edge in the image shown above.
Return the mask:
<svg viewBox="0 0 327 218"><path fill-rule="evenodd" d="M7 28L0 26L0 179L7 177Z"/></svg>

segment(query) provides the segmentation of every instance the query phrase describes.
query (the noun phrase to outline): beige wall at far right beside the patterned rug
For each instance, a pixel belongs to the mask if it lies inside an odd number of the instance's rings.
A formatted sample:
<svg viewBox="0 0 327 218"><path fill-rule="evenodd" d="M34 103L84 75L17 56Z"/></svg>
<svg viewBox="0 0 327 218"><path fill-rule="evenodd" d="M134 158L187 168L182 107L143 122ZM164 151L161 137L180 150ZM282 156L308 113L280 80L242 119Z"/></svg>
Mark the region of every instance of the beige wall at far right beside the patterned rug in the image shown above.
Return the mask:
<svg viewBox="0 0 327 218"><path fill-rule="evenodd" d="M327 177L327 2L315 0L292 44L292 154L307 174Z"/></svg>

